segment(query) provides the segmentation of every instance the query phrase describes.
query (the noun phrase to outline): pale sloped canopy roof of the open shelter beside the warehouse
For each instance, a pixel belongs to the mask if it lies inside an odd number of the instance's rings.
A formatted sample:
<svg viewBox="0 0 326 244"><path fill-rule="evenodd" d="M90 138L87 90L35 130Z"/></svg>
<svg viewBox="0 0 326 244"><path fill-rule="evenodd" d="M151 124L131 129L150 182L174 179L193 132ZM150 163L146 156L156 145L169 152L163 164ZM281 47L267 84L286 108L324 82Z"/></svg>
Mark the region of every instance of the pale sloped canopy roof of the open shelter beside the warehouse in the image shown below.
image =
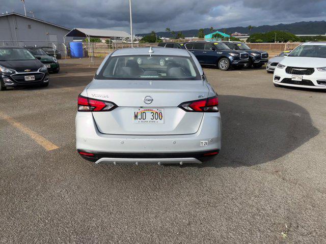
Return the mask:
<svg viewBox="0 0 326 244"><path fill-rule="evenodd" d="M111 31L110 29L86 29L86 28L74 28L67 35L67 37L102 37L102 38L112 38L112 37L121 37L127 38L130 37L130 34L122 31Z"/></svg>

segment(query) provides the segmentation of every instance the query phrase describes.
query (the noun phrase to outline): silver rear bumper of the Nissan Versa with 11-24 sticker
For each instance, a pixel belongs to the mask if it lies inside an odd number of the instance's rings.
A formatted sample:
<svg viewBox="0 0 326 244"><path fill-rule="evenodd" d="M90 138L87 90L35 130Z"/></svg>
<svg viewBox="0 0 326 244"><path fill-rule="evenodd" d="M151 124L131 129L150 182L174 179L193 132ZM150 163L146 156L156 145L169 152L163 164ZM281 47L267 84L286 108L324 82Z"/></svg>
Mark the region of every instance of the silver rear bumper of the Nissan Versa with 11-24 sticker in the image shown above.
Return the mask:
<svg viewBox="0 0 326 244"><path fill-rule="evenodd" d="M220 113L205 113L199 130L187 135L108 135L98 131L92 113L77 112L76 148L100 158L200 158L221 149ZM201 141L207 145L200 146ZM159 161L155 161L159 162Z"/></svg>

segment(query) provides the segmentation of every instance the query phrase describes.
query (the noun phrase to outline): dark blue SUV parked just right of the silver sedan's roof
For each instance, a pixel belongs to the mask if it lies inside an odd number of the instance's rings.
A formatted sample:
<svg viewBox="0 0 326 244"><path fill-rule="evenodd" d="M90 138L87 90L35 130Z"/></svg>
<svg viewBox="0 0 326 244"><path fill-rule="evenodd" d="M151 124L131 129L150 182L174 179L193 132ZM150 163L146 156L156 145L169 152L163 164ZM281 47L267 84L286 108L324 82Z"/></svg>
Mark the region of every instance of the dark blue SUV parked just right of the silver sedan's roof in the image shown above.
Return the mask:
<svg viewBox="0 0 326 244"><path fill-rule="evenodd" d="M243 68L249 62L247 52L231 50L223 42L186 42L183 46L194 53L200 64L214 65L223 71L230 67Z"/></svg>

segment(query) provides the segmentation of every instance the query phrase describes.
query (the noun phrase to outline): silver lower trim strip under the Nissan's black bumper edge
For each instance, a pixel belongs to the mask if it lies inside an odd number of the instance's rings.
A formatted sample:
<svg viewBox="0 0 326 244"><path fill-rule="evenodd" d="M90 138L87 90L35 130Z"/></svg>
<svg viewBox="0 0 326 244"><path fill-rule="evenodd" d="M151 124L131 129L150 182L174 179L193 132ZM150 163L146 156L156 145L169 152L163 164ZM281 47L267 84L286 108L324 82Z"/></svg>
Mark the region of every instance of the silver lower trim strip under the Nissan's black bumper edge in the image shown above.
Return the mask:
<svg viewBox="0 0 326 244"><path fill-rule="evenodd" d="M95 164L201 164L202 162L195 158L164 158L164 159L124 159L124 158L101 158L95 162Z"/></svg>

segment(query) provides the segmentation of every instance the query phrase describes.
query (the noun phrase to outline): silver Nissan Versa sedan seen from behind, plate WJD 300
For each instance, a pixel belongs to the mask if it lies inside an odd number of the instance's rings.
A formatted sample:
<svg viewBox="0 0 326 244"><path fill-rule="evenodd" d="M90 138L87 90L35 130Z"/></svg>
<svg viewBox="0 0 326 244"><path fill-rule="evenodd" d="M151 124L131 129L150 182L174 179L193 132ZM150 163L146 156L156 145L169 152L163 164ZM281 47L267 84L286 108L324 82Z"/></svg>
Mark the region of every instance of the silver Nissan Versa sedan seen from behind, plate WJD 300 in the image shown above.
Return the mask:
<svg viewBox="0 0 326 244"><path fill-rule="evenodd" d="M191 52L116 50L78 97L76 148L97 164L201 163L221 149L218 105Z"/></svg>

